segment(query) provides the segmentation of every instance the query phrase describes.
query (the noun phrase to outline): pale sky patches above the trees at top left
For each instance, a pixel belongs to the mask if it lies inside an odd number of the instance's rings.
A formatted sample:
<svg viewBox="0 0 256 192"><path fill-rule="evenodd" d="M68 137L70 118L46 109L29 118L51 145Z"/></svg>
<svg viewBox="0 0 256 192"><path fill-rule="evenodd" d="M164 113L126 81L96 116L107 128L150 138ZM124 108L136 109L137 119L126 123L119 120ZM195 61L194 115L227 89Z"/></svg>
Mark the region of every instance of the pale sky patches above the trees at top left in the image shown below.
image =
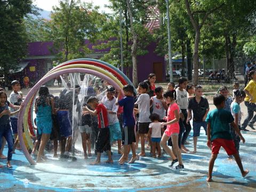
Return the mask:
<svg viewBox="0 0 256 192"><path fill-rule="evenodd" d="M108 0L81 0L82 2L93 3L93 5L100 6L100 11L105 11L106 13L111 13L111 10L104 7L105 4L109 4ZM59 5L59 0L34 0L34 5L45 10L52 11L52 6Z"/></svg>

